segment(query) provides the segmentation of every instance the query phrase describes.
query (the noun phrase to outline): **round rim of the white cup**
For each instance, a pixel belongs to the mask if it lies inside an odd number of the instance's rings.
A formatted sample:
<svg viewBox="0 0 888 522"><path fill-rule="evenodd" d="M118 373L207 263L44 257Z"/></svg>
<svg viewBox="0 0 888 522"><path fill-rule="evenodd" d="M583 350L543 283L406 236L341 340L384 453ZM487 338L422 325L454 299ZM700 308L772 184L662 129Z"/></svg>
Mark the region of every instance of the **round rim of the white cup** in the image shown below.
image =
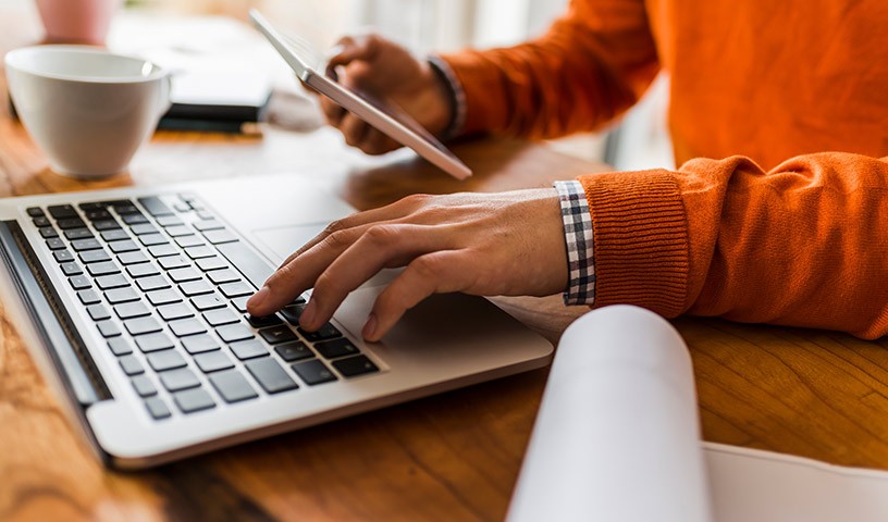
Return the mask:
<svg viewBox="0 0 888 522"><path fill-rule="evenodd" d="M145 65L150 65L151 72L144 75L128 75L128 76L89 76L89 75L73 75L49 73L40 71L37 67L29 66L25 57L38 52L71 52L71 53L86 53L86 54L104 54L115 59L124 59L128 61L139 62ZM126 54L119 54L108 49L101 49L92 46L75 46L75 45L52 45L52 46L29 46L13 49L9 51L4 58L7 67L15 69L17 71L33 74L35 76L60 79L66 82L79 82L89 84L135 84L141 82L150 82L152 79L162 78L170 74L170 71L161 67L157 63L145 60L143 58L131 57ZM145 66L143 65L143 67Z"/></svg>

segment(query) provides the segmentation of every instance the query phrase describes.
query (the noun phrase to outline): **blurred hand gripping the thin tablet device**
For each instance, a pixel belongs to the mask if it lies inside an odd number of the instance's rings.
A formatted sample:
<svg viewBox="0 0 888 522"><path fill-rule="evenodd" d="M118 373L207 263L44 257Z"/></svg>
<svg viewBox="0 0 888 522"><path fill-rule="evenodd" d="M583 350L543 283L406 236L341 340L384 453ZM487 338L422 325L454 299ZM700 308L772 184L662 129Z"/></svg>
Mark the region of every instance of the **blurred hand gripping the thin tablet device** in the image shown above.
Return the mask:
<svg viewBox="0 0 888 522"><path fill-rule="evenodd" d="M342 84L394 102L434 135L447 126L451 121L447 89L425 61L378 35L345 37L335 49L328 70ZM348 145L368 154L400 147L325 97L320 100L328 122L342 130Z"/></svg>

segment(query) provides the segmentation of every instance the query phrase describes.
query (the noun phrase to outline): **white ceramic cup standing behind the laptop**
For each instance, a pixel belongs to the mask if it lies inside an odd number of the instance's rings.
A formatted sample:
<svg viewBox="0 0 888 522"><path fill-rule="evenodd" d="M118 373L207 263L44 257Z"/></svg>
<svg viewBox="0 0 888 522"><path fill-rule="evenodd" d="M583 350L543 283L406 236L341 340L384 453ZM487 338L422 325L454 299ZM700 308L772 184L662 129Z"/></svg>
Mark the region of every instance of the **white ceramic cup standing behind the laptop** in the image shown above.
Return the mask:
<svg viewBox="0 0 888 522"><path fill-rule="evenodd" d="M98 178L126 170L170 109L170 74L84 46L35 46L5 57L18 117L60 173Z"/></svg>

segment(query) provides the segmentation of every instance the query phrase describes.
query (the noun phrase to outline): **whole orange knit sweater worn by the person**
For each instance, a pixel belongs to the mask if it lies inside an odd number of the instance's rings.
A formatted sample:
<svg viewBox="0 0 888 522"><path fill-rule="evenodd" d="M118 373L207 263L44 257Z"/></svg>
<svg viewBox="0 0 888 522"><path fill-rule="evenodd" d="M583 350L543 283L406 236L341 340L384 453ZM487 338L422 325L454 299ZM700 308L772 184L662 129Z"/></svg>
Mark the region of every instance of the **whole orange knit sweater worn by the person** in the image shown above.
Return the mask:
<svg viewBox="0 0 888 522"><path fill-rule="evenodd" d="M600 127L668 72L680 170L580 178L595 306L875 338L888 334L886 24L885 0L574 0L535 41L444 58L467 132L530 137Z"/></svg>

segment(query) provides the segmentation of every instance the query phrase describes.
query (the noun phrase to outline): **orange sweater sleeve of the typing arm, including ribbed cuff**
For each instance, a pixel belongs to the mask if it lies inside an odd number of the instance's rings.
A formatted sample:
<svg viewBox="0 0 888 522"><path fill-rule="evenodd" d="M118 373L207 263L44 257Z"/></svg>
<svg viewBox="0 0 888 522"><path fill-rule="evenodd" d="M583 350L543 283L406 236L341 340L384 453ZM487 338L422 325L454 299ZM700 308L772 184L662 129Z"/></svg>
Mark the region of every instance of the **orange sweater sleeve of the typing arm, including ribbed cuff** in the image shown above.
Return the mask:
<svg viewBox="0 0 888 522"><path fill-rule="evenodd" d="M745 158L581 176L595 306L888 334L888 158Z"/></svg>

